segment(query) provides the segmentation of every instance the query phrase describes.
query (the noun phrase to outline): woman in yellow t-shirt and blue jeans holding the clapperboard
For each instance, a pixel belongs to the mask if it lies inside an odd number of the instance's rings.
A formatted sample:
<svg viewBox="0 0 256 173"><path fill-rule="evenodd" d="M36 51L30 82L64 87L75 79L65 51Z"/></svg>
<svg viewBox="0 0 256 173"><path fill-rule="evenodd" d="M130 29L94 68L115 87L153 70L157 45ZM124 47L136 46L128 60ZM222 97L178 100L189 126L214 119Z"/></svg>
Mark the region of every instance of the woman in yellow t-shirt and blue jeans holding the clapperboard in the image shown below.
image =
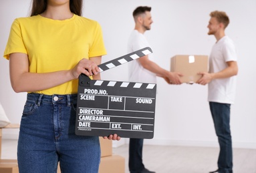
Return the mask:
<svg viewBox="0 0 256 173"><path fill-rule="evenodd" d="M20 173L98 172L97 136L76 136L81 73L100 79L106 55L100 25L81 17L82 0L33 0L31 17L15 19L4 57L11 86L28 92L19 132ZM120 140L116 134L105 136Z"/></svg>

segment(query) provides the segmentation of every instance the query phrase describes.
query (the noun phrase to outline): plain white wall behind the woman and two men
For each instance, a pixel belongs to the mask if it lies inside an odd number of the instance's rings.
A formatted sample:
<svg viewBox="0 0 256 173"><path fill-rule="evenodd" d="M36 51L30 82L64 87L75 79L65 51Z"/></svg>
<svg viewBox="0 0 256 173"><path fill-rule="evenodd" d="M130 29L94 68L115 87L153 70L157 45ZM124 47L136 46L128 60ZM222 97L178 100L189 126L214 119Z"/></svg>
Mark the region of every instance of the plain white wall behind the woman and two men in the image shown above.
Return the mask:
<svg viewBox="0 0 256 173"><path fill-rule="evenodd" d="M30 0L0 2L0 52L3 54L11 23L25 17ZM139 5L152 7L152 29L146 37L152 45L158 65L170 69L170 57L177 54L209 55L215 43L207 35L209 13L226 11L231 19L226 34L233 39L239 56L236 103L231 106L233 146L256 148L256 1L255 0L87 0L84 16L102 25L108 55L103 62L126 54L126 44L134 29L132 11ZM102 73L102 79L128 81L128 65ZM18 123L25 93L16 94L9 83L8 61L0 59L0 102L9 119ZM6 132L7 133L7 132ZM13 131L7 136L17 136ZM127 140L126 140L127 142ZM155 134L145 144L217 146L211 113L207 102L207 86L167 85L158 79Z"/></svg>

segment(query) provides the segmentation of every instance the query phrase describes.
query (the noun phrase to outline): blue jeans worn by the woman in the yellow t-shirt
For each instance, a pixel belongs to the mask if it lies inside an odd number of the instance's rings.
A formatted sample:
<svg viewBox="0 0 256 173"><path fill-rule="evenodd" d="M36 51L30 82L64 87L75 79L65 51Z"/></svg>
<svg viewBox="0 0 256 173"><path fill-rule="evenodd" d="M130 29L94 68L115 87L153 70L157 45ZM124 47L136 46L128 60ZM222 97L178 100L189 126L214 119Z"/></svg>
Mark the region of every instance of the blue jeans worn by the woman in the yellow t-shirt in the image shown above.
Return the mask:
<svg viewBox="0 0 256 173"><path fill-rule="evenodd" d="M97 136L76 136L77 94L27 94L19 132L19 173L96 173Z"/></svg>

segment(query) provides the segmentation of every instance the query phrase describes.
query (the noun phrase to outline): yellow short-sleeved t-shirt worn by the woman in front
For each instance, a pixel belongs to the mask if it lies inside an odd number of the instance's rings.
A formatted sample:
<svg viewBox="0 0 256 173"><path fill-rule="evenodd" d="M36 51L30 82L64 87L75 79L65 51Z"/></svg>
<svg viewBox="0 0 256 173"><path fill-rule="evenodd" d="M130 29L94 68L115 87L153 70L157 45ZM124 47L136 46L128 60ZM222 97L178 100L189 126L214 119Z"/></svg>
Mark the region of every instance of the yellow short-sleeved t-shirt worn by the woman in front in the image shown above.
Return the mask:
<svg viewBox="0 0 256 173"><path fill-rule="evenodd" d="M25 53L30 73L49 73L72 69L83 58L106 55L102 29L98 22L74 15L63 21L41 15L15 19L4 57ZM78 79L46 90L42 94L75 94Z"/></svg>

